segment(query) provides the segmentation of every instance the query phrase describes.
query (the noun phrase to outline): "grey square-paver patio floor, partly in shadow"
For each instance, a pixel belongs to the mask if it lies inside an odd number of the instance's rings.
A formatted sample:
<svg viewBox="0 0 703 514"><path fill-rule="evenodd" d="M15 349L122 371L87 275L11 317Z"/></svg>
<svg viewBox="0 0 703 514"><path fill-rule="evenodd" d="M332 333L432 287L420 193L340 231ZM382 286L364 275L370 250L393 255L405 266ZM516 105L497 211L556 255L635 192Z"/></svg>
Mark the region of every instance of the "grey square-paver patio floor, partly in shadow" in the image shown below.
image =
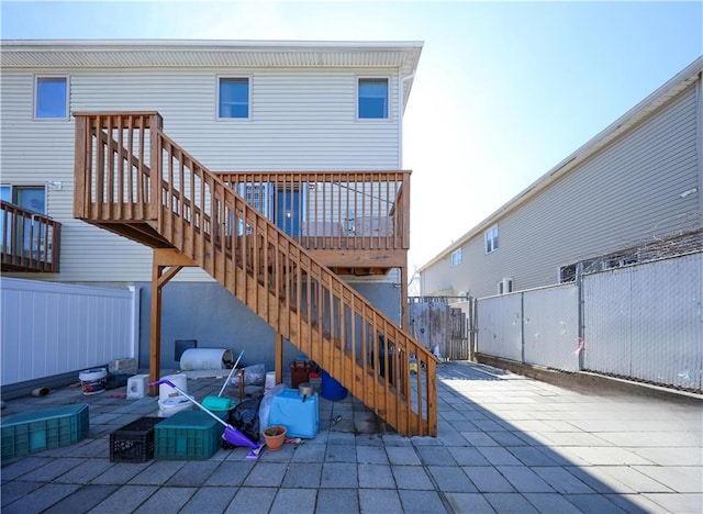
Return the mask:
<svg viewBox="0 0 703 514"><path fill-rule="evenodd" d="M196 398L220 380L189 380ZM402 437L347 396L320 400L320 432L247 460L110 462L109 434L155 398L65 388L14 412L90 404L80 443L2 462L4 513L703 512L703 403L577 392L472 362L438 366L438 428ZM330 427L331 420L342 421Z"/></svg>

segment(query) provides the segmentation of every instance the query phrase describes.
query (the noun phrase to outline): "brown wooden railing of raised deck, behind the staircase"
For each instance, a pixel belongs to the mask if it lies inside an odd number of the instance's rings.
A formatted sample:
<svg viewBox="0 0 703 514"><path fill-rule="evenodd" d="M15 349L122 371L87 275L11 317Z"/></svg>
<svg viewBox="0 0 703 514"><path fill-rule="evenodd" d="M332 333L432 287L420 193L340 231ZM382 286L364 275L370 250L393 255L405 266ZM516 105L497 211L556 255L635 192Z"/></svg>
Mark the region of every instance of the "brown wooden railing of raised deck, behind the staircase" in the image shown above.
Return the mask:
<svg viewBox="0 0 703 514"><path fill-rule="evenodd" d="M308 249L410 247L410 171L216 175Z"/></svg>

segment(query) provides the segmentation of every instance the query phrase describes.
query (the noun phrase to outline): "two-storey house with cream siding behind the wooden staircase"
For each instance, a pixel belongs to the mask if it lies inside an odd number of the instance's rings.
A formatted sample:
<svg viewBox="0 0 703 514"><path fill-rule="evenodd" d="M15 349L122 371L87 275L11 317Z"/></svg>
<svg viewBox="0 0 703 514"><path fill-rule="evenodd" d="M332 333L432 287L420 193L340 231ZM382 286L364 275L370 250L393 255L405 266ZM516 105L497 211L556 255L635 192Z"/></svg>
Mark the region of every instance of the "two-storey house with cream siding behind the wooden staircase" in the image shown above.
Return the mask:
<svg viewBox="0 0 703 514"><path fill-rule="evenodd" d="M71 113L157 111L164 132L212 171L401 170L422 43L3 41L0 51L2 200L62 224L59 272L3 275L136 287L146 366L152 250L74 217ZM399 269L347 277L398 323ZM177 366L179 339L272 362L258 344L271 328L198 268L166 288L163 327L165 367Z"/></svg>

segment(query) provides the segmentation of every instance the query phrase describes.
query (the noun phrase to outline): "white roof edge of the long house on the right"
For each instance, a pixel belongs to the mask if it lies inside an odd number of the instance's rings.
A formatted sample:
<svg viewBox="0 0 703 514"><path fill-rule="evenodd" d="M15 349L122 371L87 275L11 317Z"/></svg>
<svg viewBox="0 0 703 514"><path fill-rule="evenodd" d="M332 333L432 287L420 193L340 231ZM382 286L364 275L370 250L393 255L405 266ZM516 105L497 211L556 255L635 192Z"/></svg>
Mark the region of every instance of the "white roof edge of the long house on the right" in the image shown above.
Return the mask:
<svg viewBox="0 0 703 514"><path fill-rule="evenodd" d="M674 75L670 80L655 90L652 93L647 96L644 100L637 103L635 107L629 109L625 114L620 116L613 123L611 123L603 131L598 133L594 137L589 139L584 145L579 147L576 152L570 154L567 158L562 159L559 164L557 164L549 171L544 174L537 180L532 182L503 205L501 205L496 211L491 213L488 217L483 219L468 232L466 232L461 237L454 241L450 245L445 247L442 252L439 252L435 257L429 259L426 264L422 265L417 268L419 273L425 271L427 268L438 262L446 256L448 256L451 252L461 247L466 242L471 239L477 234L480 234L483 230L496 223L502 216L507 214L510 211L516 209L526 202L529 198L537 194L539 191L545 189L551 182L557 179L563 177L565 175L572 171L578 165L583 163L593 156L596 152L602 149L603 147L611 144L613 141L618 138L621 135L627 133L639 122L648 118L659 107L665 104L668 100L676 97L678 93L687 89L691 83L695 82L699 79L699 76L703 72L703 55L699 56L693 63L683 68L677 75Z"/></svg>

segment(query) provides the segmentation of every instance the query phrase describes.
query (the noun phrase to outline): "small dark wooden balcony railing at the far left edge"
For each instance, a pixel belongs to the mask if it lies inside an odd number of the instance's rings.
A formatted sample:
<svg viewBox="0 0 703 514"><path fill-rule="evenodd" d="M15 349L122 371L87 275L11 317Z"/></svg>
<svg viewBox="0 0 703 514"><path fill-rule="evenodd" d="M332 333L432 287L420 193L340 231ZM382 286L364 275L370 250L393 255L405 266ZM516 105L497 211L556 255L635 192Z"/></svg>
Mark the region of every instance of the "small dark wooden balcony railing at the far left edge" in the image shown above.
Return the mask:
<svg viewBox="0 0 703 514"><path fill-rule="evenodd" d="M60 223L4 201L0 216L3 271L59 271Z"/></svg>

